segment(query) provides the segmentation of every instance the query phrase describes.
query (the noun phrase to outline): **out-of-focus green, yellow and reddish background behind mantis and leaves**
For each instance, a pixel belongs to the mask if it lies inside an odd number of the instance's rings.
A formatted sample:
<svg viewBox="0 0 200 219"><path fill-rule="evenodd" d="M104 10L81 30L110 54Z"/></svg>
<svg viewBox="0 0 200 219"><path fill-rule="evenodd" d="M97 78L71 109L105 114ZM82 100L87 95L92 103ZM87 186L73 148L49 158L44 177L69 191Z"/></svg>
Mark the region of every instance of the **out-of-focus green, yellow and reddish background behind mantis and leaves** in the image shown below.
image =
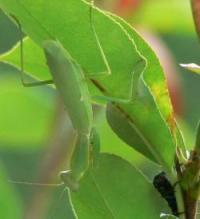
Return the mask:
<svg viewBox="0 0 200 219"><path fill-rule="evenodd" d="M187 147L192 148L200 118L200 77L179 66L200 64L189 1L96 0L95 4L124 17L154 48L165 69ZM19 38L18 28L0 11L0 53ZM102 151L120 154L151 180L159 168L121 142L108 127L104 110L94 109ZM73 142L70 120L55 90L25 88L19 71L0 63L0 218L74 218L67 193L59 198L63 187L9 182L59 183L57 173L68 166Z"/></svg>

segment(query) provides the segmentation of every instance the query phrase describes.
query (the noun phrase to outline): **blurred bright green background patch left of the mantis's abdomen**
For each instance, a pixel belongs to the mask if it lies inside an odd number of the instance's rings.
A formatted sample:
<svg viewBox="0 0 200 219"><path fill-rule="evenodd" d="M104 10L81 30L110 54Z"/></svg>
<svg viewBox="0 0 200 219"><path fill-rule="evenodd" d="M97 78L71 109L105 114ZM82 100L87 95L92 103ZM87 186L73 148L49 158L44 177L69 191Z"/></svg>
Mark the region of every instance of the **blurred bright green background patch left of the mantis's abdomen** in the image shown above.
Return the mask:
<svg viewBox="0 0 200 219"><path fill-rule="evenodd" d="M12 70L6 74L0 79L0 147L37 145L49 133L52 94L45 88L22 87Z"/></svg>

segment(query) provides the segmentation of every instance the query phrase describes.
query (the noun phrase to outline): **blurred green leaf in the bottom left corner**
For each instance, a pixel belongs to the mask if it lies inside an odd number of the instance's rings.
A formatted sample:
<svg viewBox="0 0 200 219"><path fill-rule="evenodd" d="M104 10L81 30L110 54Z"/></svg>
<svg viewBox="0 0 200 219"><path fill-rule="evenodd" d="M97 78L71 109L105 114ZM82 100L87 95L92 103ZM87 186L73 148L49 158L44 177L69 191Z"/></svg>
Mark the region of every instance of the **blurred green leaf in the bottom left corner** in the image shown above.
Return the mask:
<svg viewBox="0 0 200 219"><path fill-rule="evenodd" d="M22 203L12 184L8 183L6 172L0 165L0 214L4 219L22 218Z"/></svg>

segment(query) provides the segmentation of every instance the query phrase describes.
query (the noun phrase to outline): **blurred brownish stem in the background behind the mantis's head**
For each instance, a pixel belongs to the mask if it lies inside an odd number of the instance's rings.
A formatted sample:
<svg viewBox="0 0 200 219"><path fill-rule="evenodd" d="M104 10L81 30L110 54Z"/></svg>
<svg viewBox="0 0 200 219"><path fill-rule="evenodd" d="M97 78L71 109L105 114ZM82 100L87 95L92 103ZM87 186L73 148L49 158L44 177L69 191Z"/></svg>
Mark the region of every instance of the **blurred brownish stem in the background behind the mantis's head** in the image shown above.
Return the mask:
<svg viewBox="0 0 200 219"><path fill-rule="evenodd" d="M47 142L48 148L44 156L41 158L40 171L38 173L39 183L55 182L55 176L58 176L60 168L69 167L72 145L75 140L75 132L73 131L71 121L69 120L64 105L61 100L57 103L55 118L52 123L52 130L49 133ZM65 164L63 165L65 161ZM33 194L28 207L24 213L24 219L42 219L48 210L50 192L53 188L37 187Z"/></svg>

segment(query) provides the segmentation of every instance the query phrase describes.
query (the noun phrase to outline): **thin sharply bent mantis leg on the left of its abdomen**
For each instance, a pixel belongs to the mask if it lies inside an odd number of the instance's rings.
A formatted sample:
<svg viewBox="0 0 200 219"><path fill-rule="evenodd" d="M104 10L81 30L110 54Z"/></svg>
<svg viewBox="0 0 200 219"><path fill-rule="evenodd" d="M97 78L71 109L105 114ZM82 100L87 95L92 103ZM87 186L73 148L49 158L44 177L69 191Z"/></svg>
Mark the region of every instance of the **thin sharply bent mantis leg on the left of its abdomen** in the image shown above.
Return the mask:
<svg viewBox="0 0 200 219"><path fill-rule="evenodd" d="M24 87L35 87L35 86L41 86L45 84L53 84L53 80L44 80L44 81L34 81L34 82L26 82L25 81L25 71L24 71L24 47L23 47L23 32L21 28L21 24L18 21L18 19L14 16L11 15L11 17L15 20L17 23L19 32L20 32L20 77L21 77L21 82Z"/></svg>

